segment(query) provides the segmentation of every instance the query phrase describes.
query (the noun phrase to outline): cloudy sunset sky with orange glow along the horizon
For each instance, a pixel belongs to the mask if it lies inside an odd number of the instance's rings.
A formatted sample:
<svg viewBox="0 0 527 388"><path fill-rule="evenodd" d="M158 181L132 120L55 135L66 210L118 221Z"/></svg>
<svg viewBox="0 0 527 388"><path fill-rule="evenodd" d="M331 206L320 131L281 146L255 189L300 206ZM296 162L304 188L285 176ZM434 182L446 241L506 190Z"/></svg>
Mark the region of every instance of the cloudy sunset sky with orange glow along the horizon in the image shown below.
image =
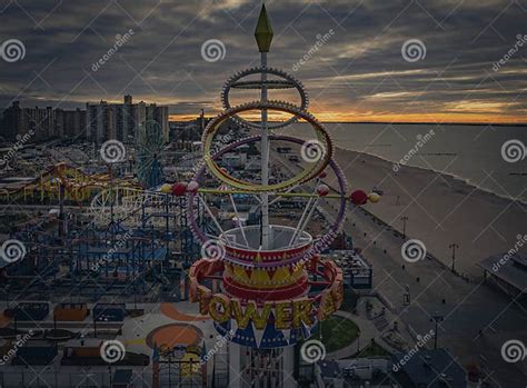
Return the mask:
<svg viewBox="0 0 527 388"><path fill-rule="evenodd" d="M19 100L82 108L130 93L169 106L172 119L193 118L201 108L217 115L225 81L259 63L260 7L2 0L0 107ZM527 122L527 0L275 0L266 7L275 32L269 66L302 81L320 120ZM12 39L24 56L6 60ZM218 57L202 54L212 39ZM233 102L257 98L235 93ZM269 97L298 103L292 91Z"/></svg>

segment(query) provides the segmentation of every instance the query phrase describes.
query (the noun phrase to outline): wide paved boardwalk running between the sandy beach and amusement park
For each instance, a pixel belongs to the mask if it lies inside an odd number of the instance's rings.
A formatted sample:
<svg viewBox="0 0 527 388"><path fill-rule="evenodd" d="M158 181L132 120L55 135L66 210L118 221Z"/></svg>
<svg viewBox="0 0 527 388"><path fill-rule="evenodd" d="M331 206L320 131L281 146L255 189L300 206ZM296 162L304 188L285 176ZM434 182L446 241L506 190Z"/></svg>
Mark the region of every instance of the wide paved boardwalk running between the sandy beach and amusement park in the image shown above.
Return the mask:
<svg viewBox="0 0 527 388"><path fill-rule="evenodd" d="M286 160L278 160L286 169L298 170ZM328 213L335 215L330 205L322 206ZM366 208L369 206L375 205ZM395 315L394 320L422 336L435 329L432 317L443 316L437 330L438 347L447 348L464 367L479 365L491 387L525 388L527 357L524 361L508 364L500 351L503 344L510 339L527 346L527 310L518 300L490 288L483 280L468 282L435 260L405 261L400 253L405 242L400 233L385 229L360 210L348 212L344 230L351 235L357 247L364 249L364 256L372 265L374 290L386 300ZM407 285L411 302L404 306L402 294Z"/></svg>

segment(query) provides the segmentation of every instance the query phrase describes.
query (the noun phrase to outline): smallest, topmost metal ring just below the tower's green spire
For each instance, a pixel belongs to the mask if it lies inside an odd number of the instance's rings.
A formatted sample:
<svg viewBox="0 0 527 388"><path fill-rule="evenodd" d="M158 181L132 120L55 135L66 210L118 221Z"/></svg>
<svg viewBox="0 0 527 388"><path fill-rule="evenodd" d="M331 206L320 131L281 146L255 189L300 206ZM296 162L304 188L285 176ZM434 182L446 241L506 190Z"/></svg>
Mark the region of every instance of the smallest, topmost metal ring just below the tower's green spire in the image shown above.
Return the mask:
<svg viewBox="0 0 527 388"><path fill-rule="evenodd" d="M257 68L250 68L246 69L242 71L237 72L233 74L229 80L223 86L223 89L221 90L221 103L223 105L223 108L226 110L231 108L230 101L229 101L229 92L231 88L236 88L235 84L239 83L239 80L251 74L260 74L262 72L266 72L268 74L274 74L277 77L280 77L285 79L286 81L290 82L294 88L298 90L298 93L300 94L300 109L306 110L307 107L309 106L309 99L307 97L306 90L304 89L304 84L297 80L295 77L289 74L288 72L279 69L274 69L274 68L262 68L262 67L257 67ZM261 88L261 81L249 81L249 82L259 82ZM269 82L269 81L268 81ZM270 88L272 89L272 88ZM248 127L248 128L260 128L259 125L250 122L238 115L233 116L232 119L235 119L237 122L240 125ZM298 117L291 117L289 120L286 120L284 122L270 122L268 123L269 129L278 129L278 128L284 128L287 127L298 120Z"/></svg>

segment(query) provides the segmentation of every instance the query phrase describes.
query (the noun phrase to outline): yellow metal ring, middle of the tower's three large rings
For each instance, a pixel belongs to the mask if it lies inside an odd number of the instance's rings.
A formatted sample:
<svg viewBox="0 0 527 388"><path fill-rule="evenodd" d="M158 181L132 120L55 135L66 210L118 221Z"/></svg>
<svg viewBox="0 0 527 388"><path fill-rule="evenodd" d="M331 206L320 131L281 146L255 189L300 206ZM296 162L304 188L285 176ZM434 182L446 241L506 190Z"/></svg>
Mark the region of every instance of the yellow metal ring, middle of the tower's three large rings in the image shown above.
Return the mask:
<svg viewBox="0 0 527 388"><path fill-rule="evenodd" d="M255 109L270 109L270 110L278 110L281 112L287 112L295 115L298 118L301 118L308 121L317 133L317 139L319 145L322 147L321 156L317 158L317 160L312 160L310 167L302 170L299 175L274 185L255 185L247 181L242 181L235 177L231 177L225 169L221 169L215 161L211 155L212 148L212 139L215 133L220 128L221 123L226 121L228 118L232 116ZM329 160L332 158L332 142L331 139L324 128L324 126L309 112L300 110L298 107L291 106L286 102L281 101L268 101L268 102L260 102L253 101L249 103L243 103L241 106L229 108L225 112L217 116L215 119L210 120L207 125L207 128L203 131L203 136L201 138L201 142L203 145L203 160L209 168L210 173L212 173L216 178L221 180L223 183L229 185L233 188L246 190L250 192L270 192L270 191L279 191L287 188L290 188L296 185L304 183L312 178L317 177L329 163Z"/></svg>

